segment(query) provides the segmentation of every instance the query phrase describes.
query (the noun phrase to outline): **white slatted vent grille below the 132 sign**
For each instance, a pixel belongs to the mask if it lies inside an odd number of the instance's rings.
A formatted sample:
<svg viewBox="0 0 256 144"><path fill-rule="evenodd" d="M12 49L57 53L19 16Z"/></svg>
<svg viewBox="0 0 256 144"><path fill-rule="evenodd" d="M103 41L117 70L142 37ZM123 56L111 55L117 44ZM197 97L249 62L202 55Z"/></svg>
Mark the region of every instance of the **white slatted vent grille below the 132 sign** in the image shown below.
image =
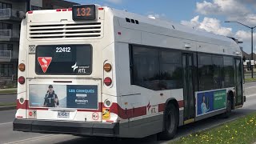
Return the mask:
<svg viewBox="0 0 256 144"><path fill-rule="evenodd" d="M30 25L29 38L95 38L102 35L102 23Z"/></svg>

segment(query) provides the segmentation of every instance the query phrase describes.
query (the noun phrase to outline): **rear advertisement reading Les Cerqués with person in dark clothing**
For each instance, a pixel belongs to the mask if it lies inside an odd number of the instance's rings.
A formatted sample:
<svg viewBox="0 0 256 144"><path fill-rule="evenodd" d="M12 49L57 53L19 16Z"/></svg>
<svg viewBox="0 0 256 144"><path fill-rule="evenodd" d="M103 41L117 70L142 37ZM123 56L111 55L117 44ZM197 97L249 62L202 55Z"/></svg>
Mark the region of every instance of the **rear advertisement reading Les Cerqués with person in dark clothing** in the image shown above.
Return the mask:
<svg viewBox="0 0 256 144"><path fill-rule="evenodd" d="M98 86L30 85L30 107L98 109Z"/></svg>

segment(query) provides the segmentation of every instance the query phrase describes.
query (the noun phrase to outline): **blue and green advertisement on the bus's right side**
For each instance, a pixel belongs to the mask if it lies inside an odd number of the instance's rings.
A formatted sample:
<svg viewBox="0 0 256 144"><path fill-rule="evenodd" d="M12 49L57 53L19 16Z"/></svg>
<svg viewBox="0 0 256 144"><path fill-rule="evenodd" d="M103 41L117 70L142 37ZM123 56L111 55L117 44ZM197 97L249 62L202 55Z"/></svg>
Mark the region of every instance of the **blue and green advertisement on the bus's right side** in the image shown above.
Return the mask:
<svg viewBox="0 0 256 144"><path fill-rule="evenodd" d="M199 91L196 95L196 116L226 109L226 89Z"/></svg>

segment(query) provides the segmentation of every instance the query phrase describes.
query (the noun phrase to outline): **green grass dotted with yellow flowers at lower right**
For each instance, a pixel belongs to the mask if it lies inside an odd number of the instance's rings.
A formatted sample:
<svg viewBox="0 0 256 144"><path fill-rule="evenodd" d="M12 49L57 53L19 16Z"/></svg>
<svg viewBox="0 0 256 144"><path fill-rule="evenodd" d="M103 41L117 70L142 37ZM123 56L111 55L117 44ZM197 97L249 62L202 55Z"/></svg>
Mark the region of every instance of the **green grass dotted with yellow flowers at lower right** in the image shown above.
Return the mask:
<svg viewBox="0 0 256 144"><path fill-rule="evenodd" d="M226 122L210 130L190 134L169 144L203 143L247 144L256 142L256 113L238 118L233 122Z"/></svg>

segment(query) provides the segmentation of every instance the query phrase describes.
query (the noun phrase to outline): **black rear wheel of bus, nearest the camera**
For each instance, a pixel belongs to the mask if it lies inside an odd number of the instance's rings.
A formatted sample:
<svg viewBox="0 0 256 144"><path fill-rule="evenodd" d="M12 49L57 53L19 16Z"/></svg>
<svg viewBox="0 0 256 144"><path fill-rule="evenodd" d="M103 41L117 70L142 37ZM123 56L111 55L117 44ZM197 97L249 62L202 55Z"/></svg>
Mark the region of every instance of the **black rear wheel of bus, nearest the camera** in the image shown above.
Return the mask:
<svg viewBox="0 0 256 144"><path fill-rule="evenodd" d="M177 108L173 104L169 104L166 107L164 115L164 130L159 135L161 139L172 139L177 133L178 129L178 112Z"/></svg>

